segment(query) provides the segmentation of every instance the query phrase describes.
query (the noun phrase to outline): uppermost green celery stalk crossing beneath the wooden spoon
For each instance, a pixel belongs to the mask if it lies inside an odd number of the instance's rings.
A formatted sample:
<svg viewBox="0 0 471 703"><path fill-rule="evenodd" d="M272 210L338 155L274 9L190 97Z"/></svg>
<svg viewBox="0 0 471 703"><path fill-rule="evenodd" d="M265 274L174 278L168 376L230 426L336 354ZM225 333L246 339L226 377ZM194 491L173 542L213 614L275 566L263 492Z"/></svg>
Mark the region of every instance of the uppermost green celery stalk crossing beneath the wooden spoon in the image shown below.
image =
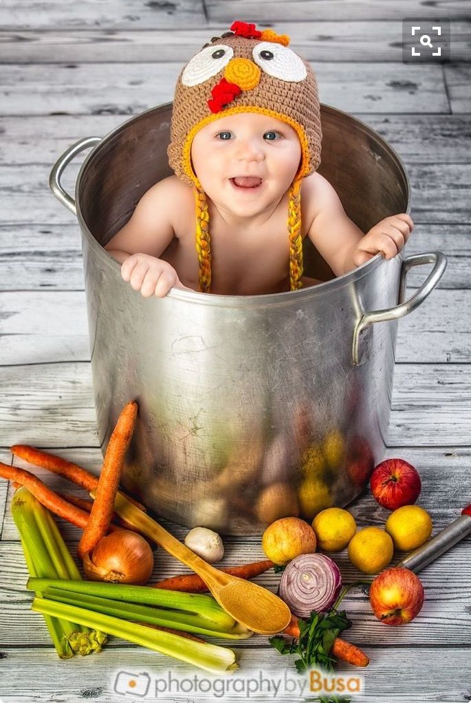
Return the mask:
<svg viewBox="0 0 471 703"><path fill-rule="evenodd" d="M30 591L41 591L41 593L44 593L46 588L60 588L61 591L98 595L112 600L185 610L205 618L207 628L210 630L230 631L236 624L236 621L221 608L212 595L203 593L182 593L152 586L130 586L126 583L60 581L59 579L28 579L26 588Z"/></svg>

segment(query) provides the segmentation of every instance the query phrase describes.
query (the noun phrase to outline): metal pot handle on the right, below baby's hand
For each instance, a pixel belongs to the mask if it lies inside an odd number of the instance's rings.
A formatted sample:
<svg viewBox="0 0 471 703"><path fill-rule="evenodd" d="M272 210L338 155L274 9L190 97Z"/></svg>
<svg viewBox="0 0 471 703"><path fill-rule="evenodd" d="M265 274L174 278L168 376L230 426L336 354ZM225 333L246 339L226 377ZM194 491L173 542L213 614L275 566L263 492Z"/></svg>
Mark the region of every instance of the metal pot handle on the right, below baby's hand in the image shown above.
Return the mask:
<svg viewBox="0 0 471 703"><path fill-rule="evenodd" d="M375 322L399 320L400 317L408 315L415 310L415 308L419 307L435 288L441 276L443 276L446 269L446 256L441 252L430 252L427 254L414 254L414 256L404 259L401 269L401 283L399 285L399 300L404 298L406 292L406 276L408 270L411 269L412 266L422 266L422 264L434 264L434 267L413 296L406 300L406 302L402 302L395 307L387 310L373 310L365 313L361 317L354 330L352 347L354 366L358 366L359 364L359 338L363 330L369 327L369 325L373 325Z"/></svg>

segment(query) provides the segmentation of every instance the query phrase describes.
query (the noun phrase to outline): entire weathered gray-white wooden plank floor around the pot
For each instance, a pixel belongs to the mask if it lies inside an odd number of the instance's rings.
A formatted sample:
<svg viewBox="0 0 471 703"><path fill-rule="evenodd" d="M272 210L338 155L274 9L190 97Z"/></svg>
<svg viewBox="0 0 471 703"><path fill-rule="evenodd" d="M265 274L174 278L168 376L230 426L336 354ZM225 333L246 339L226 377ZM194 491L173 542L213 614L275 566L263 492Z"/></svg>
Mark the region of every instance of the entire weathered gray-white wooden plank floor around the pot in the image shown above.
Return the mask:
<svg viewBox="0 0 471 703"><path fill-rule="evenodd" d="M311 60L321 101L385 136L404 160L415 231L406 253L441 250L449 265L430 298L399 323L387 456L418 467L420 504L434 531L471 501L471 91L470 22L464 0L3 0L0 3L0 460L13 443L56 451L98 472L79 227L48 188L56 157L83 136L172 100L183 62L234 19L271 25ZM401 21L449 18L452 62L401 63ZM286 18L286 21L284 20ZM65 174L71 192L79 163ZM424 273L408 276L408 295ZM18 465L24 465L18 462ZM48 477L53 487L63 482ZM30 612L26 569L0 481L0 699L98 703L124 697L117 673L194 673L111 638L101 655L60 662L41 617ZM388 512L365 494L351 505L361 527ZM183 529L170 526L176 536ZM79 532L60 522L72 548ZM155 578L183 571L158 551ZM262 558L259 539L228 538L224 563ZM396 555L394 563L401 555ZM345 553L345 582L359 573ZM426 600L403 628L375 620L364 593L345 605L349 639L370 655L368 703L471 699L471 544L463 541L420 574ZM276 588L278 578L260 583ZM240 672L293 675L292 661L254 636L235 649ZM342 671L358 673L351 667ZM304 700L285 691L256 700ZM240 698L240 697L239 697ZM137 700L136 696L127 699ZM145 699L202 701L201 695ZM236 700L225 695L224 700Z"/></svg>

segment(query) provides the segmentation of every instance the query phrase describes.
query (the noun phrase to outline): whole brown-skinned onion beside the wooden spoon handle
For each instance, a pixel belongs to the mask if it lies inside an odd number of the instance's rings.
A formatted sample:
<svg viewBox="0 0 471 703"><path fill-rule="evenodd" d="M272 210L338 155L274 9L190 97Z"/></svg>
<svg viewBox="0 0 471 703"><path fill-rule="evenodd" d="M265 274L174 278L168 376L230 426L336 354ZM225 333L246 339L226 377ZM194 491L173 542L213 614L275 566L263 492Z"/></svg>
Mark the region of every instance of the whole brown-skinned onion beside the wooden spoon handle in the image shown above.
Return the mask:
<svg viewBox="0 0 471 703"><path fill-rule="evenodd" d="M102 537L84 557L84 572L91 581L147 583L154 568L154 555L140 534L122 529Z"/></svg>

